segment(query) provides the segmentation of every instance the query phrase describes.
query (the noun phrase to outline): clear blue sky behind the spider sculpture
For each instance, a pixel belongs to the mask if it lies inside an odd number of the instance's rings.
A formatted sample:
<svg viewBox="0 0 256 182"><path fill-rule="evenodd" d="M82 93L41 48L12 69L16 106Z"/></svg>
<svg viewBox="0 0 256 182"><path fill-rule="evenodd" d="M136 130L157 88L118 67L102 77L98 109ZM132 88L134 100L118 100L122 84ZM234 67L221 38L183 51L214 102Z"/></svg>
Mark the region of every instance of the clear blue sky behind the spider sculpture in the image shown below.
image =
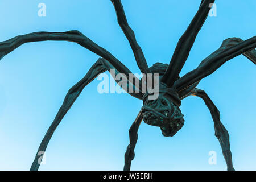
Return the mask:
<svg viewBox="0 0 256 182"><path fill-rule="evenodd" d="M46 17L38 4L46 3ZM148 65L169 63L177 41L200 5L196 1L126 1L125 13ZM208 17L196 38L181 76L230 37L249 39L256 32L256 1L216 0L217 17ZM140 73L110 1L30 0L0 2L0 40L35 31L79 30ZM28 170L65 94L99 56L71 42L20 46L0 63L0 169ZM256 169L256 67L238 56L198 88L221 113L230 135L235 169ZM109 75L109 73L108 73ZM128 130L142 101L129 94L100 94L97 79L82 92L53 134L40 170L122 170ZM188 97L180 106L183 128L163 137L159 127L142 122L133 170L225 170L213 121L203 100ZM217 164L209 165L209 151Z"/></svg>

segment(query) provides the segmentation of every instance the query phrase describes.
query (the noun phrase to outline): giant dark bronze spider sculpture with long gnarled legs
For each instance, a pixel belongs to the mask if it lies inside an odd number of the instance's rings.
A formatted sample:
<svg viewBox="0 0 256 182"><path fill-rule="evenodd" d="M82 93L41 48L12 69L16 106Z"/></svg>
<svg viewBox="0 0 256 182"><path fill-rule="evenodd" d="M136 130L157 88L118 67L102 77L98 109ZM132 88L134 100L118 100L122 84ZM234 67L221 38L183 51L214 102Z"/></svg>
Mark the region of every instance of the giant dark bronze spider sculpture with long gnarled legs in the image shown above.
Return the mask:
<svg viewBox="0 0 256 182"><path fill-rule="evenodd" d="M201 79L207 77L216 71L216 69L221 67L221 65L226 61L233 59L238 55L243 54L254 64L256 64L256 36L245 41L241 40L240 38L229 38L224 40L221 47L217 49L217 51L214 51L211 55L201 61L199 67L191 72L188 72L183 77L179 77L179 73L188 58L189 51L191 50L196 36L208 16L211 3L214 3L214 0L201 1L199 10L177 43L170 64L156 63L150 68L148 68L142 49L139 47L135 39L133 30L127 23L121 0L111 1L117 14L118 23L126 38L129 40L139 69L145 74L159 74L159 97L155 100L148 99L150 93L142 93L141 80L135 78L140 82L139 86L132 84L132 82L129 80L127 81L127 88L129 86L133 86L133 88L139 89L139 93L130 94L131 96L142 100L143 106L129 130L130 144L127 146L125 153L124 170L130 170L131 160L134 159L134 148L138 138L137 131L142 120L148 125L160 127L162 134L165 137L175 135L177 131L179 131L184 125L183 114L181 114L179 109L181 100L191 95L201 97L209 108L214 122L215 135L220 142L228 170L234 170L229 145L229 134L220 121L220 113L217 107L207 96L207 93L205 93L204 90L197 89L196 86L199 84ZM131 73L129 69L127 69L125 65L123 65L110 52L98 46L79 31L33 32L31 34L19 35L15 38L0 43L0 57L2 59L2 57L7 55L7 53L10 53L24 43L45 40L65 40L75 42L101 56L101 58L96 61L82 80L77 82L76 85L69 89L63 105L60 107L54 121L52 122L42 140L42 143L39 146L38 152L46 151L47 144L49 143L49 140L51 139L56 127L59 125L61 119L63 119L67 111L71 108L76 98L82 92L82 89L84 89L89 82L94 80L94 78L100 75L100 73L110 71L110 69L115 69L116 73L123 73L127 77L129 73ZM35 156L31 170L38 170L39 168L40 162L38 159L40 158L40 155L38 154L39 153L37 153Z"/></svg>

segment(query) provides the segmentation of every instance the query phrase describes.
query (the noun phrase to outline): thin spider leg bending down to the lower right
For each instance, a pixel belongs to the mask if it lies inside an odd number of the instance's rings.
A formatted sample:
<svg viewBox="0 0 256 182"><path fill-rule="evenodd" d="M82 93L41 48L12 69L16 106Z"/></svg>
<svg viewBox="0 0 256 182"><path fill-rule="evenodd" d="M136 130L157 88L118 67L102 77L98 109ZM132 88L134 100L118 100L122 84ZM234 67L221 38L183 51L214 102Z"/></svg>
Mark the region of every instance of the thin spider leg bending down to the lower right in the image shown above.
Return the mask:
<svg viewBox="0 0 256 182"><path fill-rule="evenodd" d="M218 138L218 141L220 142L222 153L224 155L228 167L228 171L234 171L232 163L232 153L230 151L229 144L229 133L220 121L220 111L218 111L217 107L214 105L212 100L210 100L209 96L207 95L207 93L204 92L204 90L195 88L192 90L192 96L202 98L207 107L209 108L210 114L212 115L214 122L215 136Z"/></svg>

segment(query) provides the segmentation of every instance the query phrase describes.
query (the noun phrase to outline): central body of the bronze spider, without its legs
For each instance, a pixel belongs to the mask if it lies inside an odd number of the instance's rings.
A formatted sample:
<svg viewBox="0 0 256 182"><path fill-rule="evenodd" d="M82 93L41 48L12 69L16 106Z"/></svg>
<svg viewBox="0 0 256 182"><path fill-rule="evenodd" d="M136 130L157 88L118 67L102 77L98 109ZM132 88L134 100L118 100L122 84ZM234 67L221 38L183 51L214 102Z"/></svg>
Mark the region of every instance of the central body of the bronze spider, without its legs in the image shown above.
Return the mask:
<svg viewBox="0 0 256 182"><path fill-rule="evenodd" d="M156 100L149 100L148 93L144 94L142 113L145 123L160 127L164 137L172 137L184 125L184 118L179 109L181 101L176 89L174 86L169 88L160 81L167 68L168 64L163 63L155 63L150 67L152 73L159 74L159 96Z"/></svg>

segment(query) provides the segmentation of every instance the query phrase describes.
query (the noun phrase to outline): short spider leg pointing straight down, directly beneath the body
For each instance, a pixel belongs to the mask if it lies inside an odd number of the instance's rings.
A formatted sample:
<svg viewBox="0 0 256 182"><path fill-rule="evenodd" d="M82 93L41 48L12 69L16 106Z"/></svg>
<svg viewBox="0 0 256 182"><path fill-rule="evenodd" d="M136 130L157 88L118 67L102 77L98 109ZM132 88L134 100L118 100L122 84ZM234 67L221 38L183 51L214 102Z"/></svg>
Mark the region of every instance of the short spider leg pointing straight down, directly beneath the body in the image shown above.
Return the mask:
<svg viewBox="0 0 256 182"><path fill-rule="evenodd" d="M139 125L141 125L142 119L142 111L139 111L137 118L135 119L135 121L133 122L129 129L130 144L127 146L125 152L125 166L123 167L124 171L130 171L131 160L133 160L135 156L134 148L138 139L138 129Z"/></svg>

